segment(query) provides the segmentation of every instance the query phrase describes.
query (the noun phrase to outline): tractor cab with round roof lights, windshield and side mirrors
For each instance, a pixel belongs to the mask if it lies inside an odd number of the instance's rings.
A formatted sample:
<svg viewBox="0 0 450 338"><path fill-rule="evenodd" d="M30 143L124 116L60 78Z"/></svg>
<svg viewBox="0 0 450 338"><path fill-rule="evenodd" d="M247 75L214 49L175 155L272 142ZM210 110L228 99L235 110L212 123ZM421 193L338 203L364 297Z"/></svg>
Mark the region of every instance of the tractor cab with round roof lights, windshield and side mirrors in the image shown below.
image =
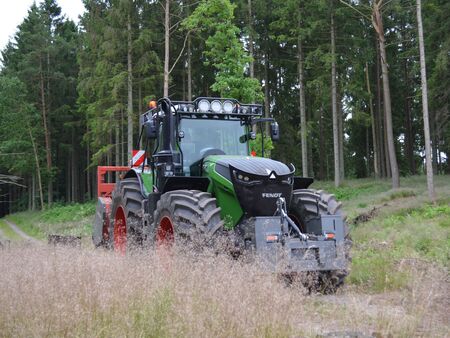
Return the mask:
<svg viewBox="0 0 450 338"><path fill-rule="evenodd" d="M141 116L141 124L148 140L155 140L150 162L173 162L164 176L201 176L203 160L210 155L250 156L249 141L256 138L253 127L262 122L270 122L272 139L279 139L278 124L263 117L260 104L200 97L194 101L164 98L151 107ZM264 153L264 135L261 147Z"/></svg>

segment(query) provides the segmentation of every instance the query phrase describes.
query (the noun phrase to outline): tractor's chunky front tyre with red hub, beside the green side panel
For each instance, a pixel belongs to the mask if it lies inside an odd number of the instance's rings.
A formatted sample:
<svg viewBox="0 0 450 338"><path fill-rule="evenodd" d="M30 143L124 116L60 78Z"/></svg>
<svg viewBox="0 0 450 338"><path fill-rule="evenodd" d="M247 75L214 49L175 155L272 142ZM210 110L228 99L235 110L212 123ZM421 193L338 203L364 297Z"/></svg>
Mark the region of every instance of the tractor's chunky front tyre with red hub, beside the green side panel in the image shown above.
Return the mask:
<svg viewBox="0 0 450 338"><path fill-rule="evenodd" d="M156 206L150 231L157 245L185 242L194 249L210 246L213 235L223 228L220 208L210 193L175 190L163 194Z"/></svg>

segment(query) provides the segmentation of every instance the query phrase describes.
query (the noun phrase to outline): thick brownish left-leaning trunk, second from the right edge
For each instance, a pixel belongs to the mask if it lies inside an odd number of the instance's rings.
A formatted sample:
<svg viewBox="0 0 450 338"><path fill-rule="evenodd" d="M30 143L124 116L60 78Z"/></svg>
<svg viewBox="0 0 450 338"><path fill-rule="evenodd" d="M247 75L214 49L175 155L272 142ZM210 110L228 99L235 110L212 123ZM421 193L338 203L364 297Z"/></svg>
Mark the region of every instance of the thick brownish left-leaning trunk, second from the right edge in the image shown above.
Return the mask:
<svg viewBox="0 0 450 338"><path fill-rule="evenodd" d="M391 93L389 87L389 73L387 67L386 47L384 38L383 21L381 17L382 0L377 0L373 3L373 26L378 34L378 43L380 45L381 54L381 72L383 77L383 97L384 97L384 111L386 119L386 135L389 151L389 162L392 174L392 188L400 187L400 176L397 164L397 155L395 153L394 133L392 128L392 111L391 111Z"/></svg>

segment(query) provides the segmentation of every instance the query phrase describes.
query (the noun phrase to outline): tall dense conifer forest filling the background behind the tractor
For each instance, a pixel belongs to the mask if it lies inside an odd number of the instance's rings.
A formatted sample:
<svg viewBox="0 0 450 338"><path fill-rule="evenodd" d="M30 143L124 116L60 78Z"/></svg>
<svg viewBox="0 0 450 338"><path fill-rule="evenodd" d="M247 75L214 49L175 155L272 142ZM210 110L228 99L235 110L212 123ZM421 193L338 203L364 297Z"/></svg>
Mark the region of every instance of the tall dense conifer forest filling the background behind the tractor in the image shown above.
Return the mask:
<svg viewBox="0 0 450 338"><path fill-rule="evenodd" d="M151 99L233 97L280 124L271 157L334 180L425 174L414 0L33 4L1 51L0 214L95 197ZM450 2L423 2L434 174L450 173Z"/></svg>

